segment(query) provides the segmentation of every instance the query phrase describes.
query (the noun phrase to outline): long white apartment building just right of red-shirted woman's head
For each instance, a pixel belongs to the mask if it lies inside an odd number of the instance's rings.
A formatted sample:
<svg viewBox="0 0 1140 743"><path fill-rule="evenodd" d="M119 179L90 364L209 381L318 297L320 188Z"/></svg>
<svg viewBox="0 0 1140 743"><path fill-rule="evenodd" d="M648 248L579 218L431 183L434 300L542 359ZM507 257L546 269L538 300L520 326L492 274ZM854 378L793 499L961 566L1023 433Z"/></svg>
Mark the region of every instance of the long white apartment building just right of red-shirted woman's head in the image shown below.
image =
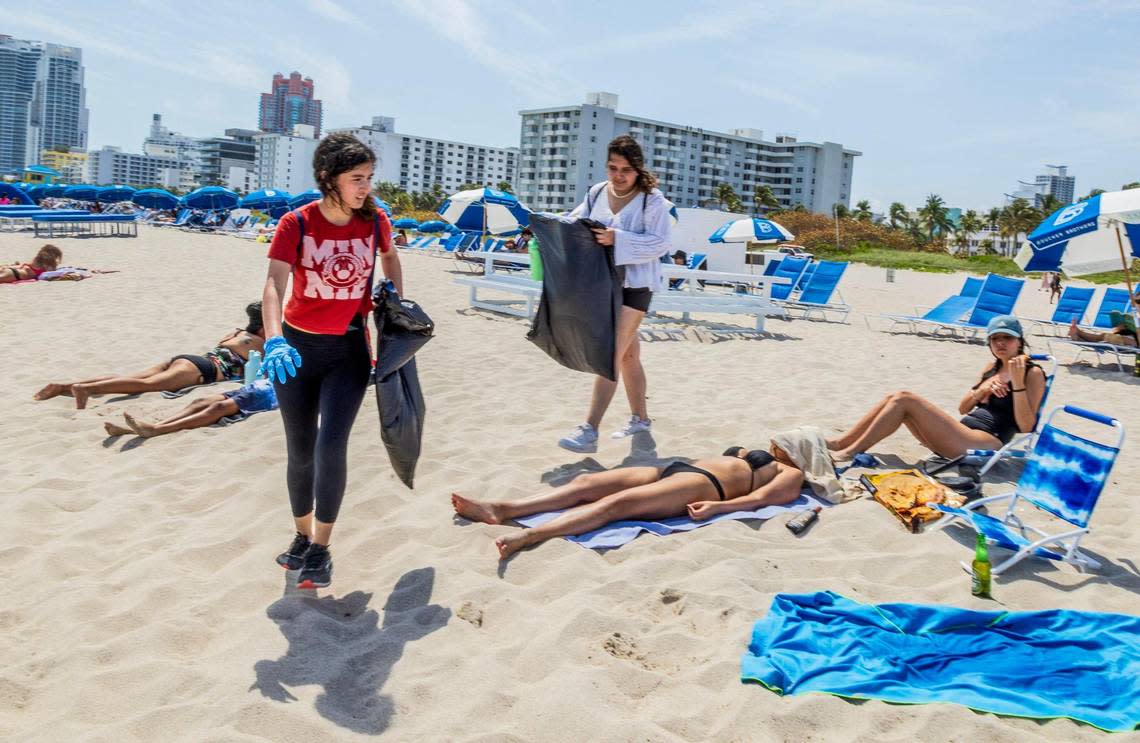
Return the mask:
<svg viewBox="0 0 1140 743"><path fill-rule="evenodd" d="M396 131L396 120L374 116L372 124L345 131L376 153L377 182L397 183L406 191L426 191L439 183L448 194L464 183L496 187L502 182L518 186L519 150L515 147L488 147Z"/></svg>

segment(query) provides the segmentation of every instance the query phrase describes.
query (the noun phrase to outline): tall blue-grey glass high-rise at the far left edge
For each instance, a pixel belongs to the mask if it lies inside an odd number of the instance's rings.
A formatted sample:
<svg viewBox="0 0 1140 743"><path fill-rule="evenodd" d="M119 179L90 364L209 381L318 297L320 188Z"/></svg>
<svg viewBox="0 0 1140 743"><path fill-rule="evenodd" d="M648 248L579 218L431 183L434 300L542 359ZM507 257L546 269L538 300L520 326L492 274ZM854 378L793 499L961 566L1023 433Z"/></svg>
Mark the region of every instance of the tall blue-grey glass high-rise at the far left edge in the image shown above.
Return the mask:
<svg viewBox="0 0 1140 743"><path fill-rule="evenodd" d="M0 35L0 172L87 149L83 50Z"/></svg>

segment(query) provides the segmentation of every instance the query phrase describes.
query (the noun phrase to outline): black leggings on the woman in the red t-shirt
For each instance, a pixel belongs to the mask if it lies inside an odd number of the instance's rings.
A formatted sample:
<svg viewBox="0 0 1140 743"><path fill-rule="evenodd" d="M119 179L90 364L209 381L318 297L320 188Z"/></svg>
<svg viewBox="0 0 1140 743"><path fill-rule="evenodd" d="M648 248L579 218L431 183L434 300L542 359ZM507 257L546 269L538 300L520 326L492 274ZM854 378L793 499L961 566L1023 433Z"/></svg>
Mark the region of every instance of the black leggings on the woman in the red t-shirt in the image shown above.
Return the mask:
<svg viewBox="0 0 1140 743"><path fill-rule="evenodd" d="M288 447L290 504L295 517L316 505L317 521L331 524L344 498L349 433L368 387L368 344L360 329L317 335L285 325L283 334L301 354L296 376L274 382Z"/></svg>

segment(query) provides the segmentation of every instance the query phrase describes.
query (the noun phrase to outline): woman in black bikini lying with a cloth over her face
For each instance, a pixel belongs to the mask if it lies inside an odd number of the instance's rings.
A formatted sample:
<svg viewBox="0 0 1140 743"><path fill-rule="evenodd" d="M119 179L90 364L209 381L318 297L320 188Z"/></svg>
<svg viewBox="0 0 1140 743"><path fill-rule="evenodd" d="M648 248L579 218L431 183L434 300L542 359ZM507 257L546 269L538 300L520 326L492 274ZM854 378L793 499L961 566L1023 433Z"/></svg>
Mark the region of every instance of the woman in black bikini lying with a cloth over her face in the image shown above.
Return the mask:
<svg viewBox="0 0 1140 743"><path fill-rule="evenodd" d="M455 512L464 519L499 524L516 516L569 508L539 526L495 540L506 560L530 545L583 534L625 519L669 519L689 515L701 521L718 513L791 503L804 483L788 455L775 444L769 451L732 447L719 457L666 467L622 467L578 475L561 488L523 500L474 500L451 493Z"/></svg>

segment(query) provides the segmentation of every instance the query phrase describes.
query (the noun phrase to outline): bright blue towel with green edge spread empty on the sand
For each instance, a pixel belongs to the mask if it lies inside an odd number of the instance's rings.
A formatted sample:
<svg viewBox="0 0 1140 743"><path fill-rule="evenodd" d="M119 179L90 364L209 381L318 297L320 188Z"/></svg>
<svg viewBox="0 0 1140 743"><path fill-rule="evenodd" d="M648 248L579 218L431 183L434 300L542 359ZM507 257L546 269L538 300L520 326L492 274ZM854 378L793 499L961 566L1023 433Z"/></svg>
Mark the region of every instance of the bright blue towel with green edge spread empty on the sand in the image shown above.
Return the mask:
<svg viewBox="0 0 1140 743"><path fill-rule="evenodd" d="M752 628L741 680L780 694L952 702L1127 732L1140 726L1140 617L777 594Z"/></svg>

